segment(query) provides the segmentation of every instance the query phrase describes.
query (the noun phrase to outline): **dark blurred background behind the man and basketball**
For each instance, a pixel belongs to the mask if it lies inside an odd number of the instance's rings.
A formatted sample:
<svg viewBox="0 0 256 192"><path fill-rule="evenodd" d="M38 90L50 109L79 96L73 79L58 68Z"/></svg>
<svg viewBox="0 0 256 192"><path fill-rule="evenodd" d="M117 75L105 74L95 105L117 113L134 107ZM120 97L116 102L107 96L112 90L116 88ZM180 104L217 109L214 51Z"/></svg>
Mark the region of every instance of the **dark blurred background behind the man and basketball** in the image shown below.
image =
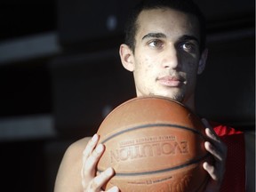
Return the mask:
<svg viewBox="0 0 256 192"><path fill-rule="evenodd" d="M91 136L109 110L135 96L118 56L134 2L1 1L3 190L52 191L68 145ZM197 112L254 134L254 1L196 3L206 16L209 47Z"/></svg>

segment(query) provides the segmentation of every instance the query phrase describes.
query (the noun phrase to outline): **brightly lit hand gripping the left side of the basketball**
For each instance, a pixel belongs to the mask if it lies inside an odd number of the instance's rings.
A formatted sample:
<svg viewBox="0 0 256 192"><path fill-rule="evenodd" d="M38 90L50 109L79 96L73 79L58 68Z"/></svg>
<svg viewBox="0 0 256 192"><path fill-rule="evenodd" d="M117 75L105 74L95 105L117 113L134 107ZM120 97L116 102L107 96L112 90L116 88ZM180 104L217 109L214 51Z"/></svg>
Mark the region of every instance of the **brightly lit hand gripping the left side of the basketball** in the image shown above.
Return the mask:
<svg viewBox="0 0 256 192"><path fill-rule="evenodd" d="M109 167L104 172L96 175L96 166L102 156L105 147L102 144L97 146L99 135L95 134L84 149L83 167L81 171L82 186L84 192L99 192L103 191L102 186L115 174L114 170ZM117 187L109 188L108 192L118 192Z"/></svg>

